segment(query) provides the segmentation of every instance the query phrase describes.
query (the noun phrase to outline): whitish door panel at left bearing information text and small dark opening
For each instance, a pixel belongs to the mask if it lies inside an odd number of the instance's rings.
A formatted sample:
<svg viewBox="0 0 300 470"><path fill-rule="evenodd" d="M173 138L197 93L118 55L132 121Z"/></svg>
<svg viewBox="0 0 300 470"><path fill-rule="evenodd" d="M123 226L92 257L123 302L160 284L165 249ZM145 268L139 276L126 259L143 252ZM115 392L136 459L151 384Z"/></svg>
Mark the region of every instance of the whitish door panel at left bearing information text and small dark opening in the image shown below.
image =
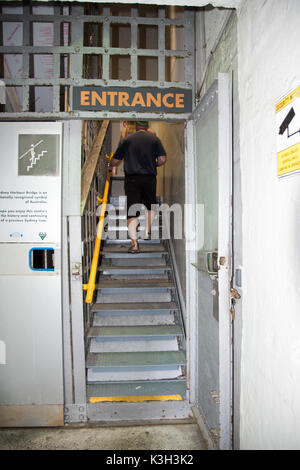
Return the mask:
<svg viewBox="0 0 300 470"><path fill-rule="evenodd" d="M0 426L63 425L62 124L2 122L0 142Z"/></svg>

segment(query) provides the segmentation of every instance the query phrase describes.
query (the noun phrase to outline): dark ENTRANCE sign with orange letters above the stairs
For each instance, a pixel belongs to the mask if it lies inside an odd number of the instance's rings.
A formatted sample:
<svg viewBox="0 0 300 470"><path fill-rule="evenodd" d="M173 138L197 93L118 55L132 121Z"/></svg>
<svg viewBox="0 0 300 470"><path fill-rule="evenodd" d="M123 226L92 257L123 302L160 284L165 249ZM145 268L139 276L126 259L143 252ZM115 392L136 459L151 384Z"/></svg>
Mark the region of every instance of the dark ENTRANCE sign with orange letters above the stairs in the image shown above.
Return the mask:
<svg viewBox="0 0 300 470"><path fill-rule="evenodd" d="M182 88L73 87L73 111L191 113L192 90Z"/></svg>

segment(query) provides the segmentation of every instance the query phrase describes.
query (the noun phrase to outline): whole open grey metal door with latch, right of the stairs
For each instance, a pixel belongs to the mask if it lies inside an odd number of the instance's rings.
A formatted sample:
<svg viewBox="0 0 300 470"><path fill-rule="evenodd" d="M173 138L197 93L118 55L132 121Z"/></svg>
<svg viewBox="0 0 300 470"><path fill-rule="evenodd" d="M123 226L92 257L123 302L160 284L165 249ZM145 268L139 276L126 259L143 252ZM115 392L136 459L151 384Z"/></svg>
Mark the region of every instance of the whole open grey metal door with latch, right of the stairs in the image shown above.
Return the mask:
<svg viewBox="0 0 300 470"><path fill-rule="evenodd" d="M231 448L231 76L218 80L194 112L196 192L197 392L220 449Z"/></svg>

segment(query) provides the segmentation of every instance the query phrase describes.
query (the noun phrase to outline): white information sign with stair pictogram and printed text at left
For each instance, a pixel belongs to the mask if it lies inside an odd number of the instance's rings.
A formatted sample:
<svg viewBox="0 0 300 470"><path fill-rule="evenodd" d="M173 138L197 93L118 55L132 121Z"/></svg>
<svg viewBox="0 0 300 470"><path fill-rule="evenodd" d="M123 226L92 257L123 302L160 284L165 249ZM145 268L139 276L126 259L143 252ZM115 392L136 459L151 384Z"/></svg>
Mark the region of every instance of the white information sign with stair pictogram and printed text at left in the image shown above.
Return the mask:
<svg viewBox="0 0 300 470"><path fill-rule="evenodd" d="M0 242L60 243L61 125L23 126L0 123Z"/></svg>

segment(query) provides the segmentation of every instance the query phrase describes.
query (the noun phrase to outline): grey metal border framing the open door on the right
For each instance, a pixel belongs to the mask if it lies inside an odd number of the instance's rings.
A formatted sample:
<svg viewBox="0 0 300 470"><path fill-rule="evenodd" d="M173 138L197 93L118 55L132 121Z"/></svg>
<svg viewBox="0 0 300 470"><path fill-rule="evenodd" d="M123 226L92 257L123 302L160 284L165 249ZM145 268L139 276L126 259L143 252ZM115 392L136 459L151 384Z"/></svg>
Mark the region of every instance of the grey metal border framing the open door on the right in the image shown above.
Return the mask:
<svg viewBox="0 0 300 470"><path fill-rule="evenodd" d="M200 104L192 114L187 124L186 154L193 158L186 159L186 204L190 205L187 211L186 226L189 230L196 230L196 155L194 146L194 119L201 116L205 109L218 99L218 138L219 138L219 209L218 209L218 278L219 278L219 346L220 346L220 449L232 448L232 334L231 334L231 265L232 265L232 75L219 73L218 79L206 93ZM222 197L221 197L222 194ZM190 400L195 404L197 390L197 264L196 239L187 242L187 310L188 331L190 342L188 354L190 362ZM201 429L212 444L204 419L195 408L195 414Z"/></svg>

